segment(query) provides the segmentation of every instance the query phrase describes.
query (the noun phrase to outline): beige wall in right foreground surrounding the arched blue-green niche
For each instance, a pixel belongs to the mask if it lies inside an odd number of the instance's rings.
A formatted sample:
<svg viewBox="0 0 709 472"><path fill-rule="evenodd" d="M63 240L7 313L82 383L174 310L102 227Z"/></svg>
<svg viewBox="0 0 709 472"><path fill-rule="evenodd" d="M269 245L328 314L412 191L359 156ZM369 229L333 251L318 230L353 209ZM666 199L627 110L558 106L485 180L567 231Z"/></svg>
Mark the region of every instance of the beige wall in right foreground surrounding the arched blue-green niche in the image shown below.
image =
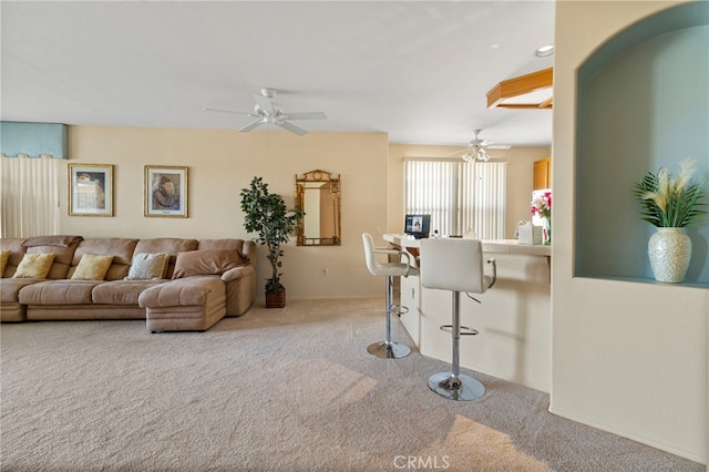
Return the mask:
<svg viewBox="0 0 709 472"><path fill-rule="evenodd" d="M557 2L551 411L707 463L709 290L574 277L575 71L677 3Z"/></svg>

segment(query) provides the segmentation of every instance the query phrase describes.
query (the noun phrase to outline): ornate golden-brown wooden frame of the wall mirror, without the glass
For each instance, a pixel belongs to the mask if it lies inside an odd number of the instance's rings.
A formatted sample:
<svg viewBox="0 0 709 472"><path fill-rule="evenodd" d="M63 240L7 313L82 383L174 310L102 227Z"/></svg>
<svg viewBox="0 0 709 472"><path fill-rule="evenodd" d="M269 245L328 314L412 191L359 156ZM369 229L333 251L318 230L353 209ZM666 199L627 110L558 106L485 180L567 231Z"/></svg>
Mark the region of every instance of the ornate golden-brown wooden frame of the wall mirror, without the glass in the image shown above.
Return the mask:
<svg viewBox="0 0 709 472"><path fill-rule="evenodd" d="M296 243L298 246L341 246L342 235L340 232L340 175L333 176L327 171L315 170L306 172L299 177L296 174L296 206L305 213L305 193L308 184L320 184L319 187L328 186L332 194L332 224L335 234L332 237L306 237L306 218L298 222L296 228Z"/></svg>

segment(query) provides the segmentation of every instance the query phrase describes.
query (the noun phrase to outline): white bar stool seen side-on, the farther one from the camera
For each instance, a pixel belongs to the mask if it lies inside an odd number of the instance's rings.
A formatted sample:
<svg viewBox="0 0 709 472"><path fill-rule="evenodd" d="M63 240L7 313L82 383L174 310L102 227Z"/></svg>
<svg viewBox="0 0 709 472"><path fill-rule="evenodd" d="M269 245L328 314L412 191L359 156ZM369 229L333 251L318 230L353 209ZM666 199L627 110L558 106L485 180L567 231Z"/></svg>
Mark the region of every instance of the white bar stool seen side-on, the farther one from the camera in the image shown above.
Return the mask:
<svg viewBox="0 0 709 472"><path fill-rule="evenodd" d="M374 240L369 233L362 234L362 243L364 245L364 259L367 260L367 268L373 276L386 277L387 281L387 330L384 332L384 340L381 342L374 342L367 348L367 352L383 359L399 359L407 357L411 353L411 348L405 345L400 345L391 340L391 314L394 312L398 316L407 312L402 310L401 306L394 306L394 281L393 277L408 277L409 275L418 275L419 271L415 267L411 267L411 256L407 252L397 250L391 247L374 247ZM377 260L376 255L387 255L387 263L380 263ZM389 261L389 256L397 256L395 263ZM402 257L405 259L401 261Z"/></svg>

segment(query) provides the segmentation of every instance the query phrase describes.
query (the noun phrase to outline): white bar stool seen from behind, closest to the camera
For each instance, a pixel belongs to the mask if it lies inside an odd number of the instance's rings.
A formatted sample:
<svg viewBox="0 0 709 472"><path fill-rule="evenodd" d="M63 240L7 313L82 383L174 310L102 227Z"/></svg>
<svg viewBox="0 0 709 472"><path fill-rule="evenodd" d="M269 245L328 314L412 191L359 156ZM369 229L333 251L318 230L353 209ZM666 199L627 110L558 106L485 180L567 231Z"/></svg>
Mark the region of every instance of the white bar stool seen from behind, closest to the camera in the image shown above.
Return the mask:
<svg viewBox="0 0 709 472"><path fill-rule="evenodd" d="M461 335L477 335L477 331L461 326L460 299L461 291L484 294L495 285L497 279L495 259L487 260L492 264L493 275L486 276L483 269L483 249L480 239L449 238L422 239L419 260L423 287L453 293L453 324L441 326L441 329L451 332L453 338L452 371L431 376L429 388L451 400L477 400L485 394L485 387L479 380L461 374Z"/></svg>

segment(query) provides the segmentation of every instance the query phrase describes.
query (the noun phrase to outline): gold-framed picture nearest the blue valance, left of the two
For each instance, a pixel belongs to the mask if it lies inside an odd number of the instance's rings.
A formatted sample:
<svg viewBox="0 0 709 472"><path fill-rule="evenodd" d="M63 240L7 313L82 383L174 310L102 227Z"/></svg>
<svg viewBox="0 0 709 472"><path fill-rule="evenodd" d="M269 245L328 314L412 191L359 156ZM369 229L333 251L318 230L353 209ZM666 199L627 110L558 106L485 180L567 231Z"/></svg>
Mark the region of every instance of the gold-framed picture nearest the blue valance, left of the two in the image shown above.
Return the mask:
<svg viewBox="0 0 709 472"><path fill-rule="evenodd" d="M69 164L69 215L113 216L113 165Z"/></svg>

